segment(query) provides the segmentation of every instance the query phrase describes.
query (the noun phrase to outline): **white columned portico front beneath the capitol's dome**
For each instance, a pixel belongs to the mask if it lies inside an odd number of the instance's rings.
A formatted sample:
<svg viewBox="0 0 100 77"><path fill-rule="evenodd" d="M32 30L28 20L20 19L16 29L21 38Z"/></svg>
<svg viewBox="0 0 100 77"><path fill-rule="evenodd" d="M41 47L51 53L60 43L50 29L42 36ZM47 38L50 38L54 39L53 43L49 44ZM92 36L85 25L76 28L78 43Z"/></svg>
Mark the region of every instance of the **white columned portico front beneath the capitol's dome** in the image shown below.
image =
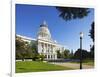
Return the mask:
<svg viewBox="0 0 100 77"><path fill-rule="evenodd" d="M38 51L42 54L44 54L44 56L46 56L45 59L47 60L54 60L57 59L57 55L54 51L54 45L46 43L45 41L40 42L38 41ZM42 51L42 52L41 52Z"/></svg>

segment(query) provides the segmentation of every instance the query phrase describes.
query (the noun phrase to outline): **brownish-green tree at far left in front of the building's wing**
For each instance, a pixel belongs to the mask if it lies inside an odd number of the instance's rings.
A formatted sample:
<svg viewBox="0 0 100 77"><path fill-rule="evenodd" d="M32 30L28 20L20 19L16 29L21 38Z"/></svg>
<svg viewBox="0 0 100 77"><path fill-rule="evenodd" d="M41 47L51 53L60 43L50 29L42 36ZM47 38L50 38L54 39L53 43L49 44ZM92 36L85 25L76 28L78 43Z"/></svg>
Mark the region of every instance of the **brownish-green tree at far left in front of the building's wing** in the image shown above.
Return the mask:
<svg viewBox="0 0 100 77"><path fill-rule="evenodd" d="M33 52L29 42L23 41L22 38L16 36L16 59L33 58Z"/></svg>

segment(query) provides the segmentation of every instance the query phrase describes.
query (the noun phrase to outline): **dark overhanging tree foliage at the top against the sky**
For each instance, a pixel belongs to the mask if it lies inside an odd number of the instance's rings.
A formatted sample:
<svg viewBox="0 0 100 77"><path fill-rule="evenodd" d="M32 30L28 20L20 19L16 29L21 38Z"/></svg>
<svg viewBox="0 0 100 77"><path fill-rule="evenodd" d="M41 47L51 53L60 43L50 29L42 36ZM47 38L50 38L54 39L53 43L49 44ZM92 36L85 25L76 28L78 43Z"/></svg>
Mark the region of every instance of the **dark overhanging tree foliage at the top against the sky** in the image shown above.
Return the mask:
<svg viewBox="0 0 100 77"><path fill-rule="evenodd" d="M76 7L56 7L59 11L59 17L64 20L81 19L88 15L89 8L76 8Z"/></svg>

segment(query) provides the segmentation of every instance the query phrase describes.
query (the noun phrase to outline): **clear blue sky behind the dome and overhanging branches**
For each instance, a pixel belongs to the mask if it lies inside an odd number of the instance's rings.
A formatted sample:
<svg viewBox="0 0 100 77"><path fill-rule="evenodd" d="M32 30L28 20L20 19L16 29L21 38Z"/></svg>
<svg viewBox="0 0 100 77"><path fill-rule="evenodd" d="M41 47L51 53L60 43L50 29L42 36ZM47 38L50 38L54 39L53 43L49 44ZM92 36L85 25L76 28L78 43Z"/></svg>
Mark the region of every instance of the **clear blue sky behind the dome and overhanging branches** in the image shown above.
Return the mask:
<svg viewBox="0 0 100 77"><path fill-rule="evenodd" d="M61 45L74 51L79 48L79 33L84 33L83 49L89 50L92 44L89 35L94 21L94 9L83 19L65 21L60 18L55 7L36 5L16 5L16 34L36 38L40 24L45 20L52 38Z"/></svg>

